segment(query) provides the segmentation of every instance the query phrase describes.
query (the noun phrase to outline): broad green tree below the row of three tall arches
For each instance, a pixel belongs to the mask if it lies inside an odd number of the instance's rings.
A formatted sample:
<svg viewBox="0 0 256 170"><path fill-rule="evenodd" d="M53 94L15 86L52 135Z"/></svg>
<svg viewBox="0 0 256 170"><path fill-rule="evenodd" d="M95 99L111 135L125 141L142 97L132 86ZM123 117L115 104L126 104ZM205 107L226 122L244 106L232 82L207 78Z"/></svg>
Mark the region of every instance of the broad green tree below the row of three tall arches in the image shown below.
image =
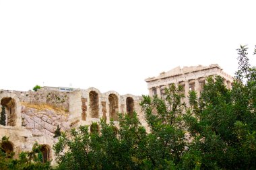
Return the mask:
<svg viewBox="0 0 256 170"><path fill-rule="evenodd" d="M139 169L145 158L146 130L136 114L120 115L119 126L117 130L113 122L102 119L100 133L90 133L88 126L63 133L53 146L57 169Z"/></svg>

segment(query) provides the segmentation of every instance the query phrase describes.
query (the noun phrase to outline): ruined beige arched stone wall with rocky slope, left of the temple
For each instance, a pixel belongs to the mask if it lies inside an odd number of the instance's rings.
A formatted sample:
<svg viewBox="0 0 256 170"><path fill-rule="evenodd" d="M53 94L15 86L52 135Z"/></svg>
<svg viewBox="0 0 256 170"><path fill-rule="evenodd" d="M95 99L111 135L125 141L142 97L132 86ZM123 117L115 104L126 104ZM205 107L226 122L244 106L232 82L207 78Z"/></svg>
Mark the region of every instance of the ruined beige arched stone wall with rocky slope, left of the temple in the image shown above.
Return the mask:
<svg viewBox="0 0 256 170"><path fill-rule="evenodd" d="M7 125L0 125L0 138L9 136L6 151L31 151L35 142L43 145L45 160L55 160L53 138L59 125L69 130L81 125L91 125L105 118L117 122L117 113L137 112L141 123L146 126L139 102L141 97L116 91L101 93L98 89L71 89L65 87L42 87L38 91L0 90L1 105L5 106ZM1 112L1 108L0 108Z"/></svg>

